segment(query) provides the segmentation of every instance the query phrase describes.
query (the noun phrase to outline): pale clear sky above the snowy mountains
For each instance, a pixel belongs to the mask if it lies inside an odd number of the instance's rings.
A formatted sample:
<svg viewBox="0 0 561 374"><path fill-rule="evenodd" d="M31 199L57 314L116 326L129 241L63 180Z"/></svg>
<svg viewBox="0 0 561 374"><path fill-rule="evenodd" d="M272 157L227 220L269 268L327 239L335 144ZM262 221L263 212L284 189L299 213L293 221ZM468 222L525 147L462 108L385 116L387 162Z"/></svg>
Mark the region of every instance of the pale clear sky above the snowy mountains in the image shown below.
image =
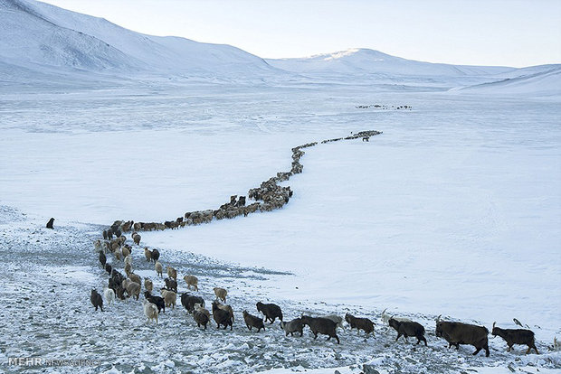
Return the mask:
<svg viewBox="0 0 561 374"><path fill-rule="evenodd" d="M369 48L405 59L561 63L561 0L45 0L130 30L263 58Z"/></svg>

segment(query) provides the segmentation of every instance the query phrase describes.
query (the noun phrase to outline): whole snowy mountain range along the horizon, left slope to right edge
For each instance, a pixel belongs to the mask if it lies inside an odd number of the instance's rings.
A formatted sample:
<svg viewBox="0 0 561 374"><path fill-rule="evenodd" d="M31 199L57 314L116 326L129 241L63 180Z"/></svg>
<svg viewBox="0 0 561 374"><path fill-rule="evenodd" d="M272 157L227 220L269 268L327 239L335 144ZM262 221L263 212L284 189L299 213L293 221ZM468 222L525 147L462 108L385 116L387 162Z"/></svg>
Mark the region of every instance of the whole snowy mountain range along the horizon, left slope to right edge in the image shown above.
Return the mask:
<svg viewBox="0 0 561 374"><path fill-rule="evenodd" d="M268 59L231 45L136 33L115 23L34 0L0 0L0 85L79 84L122 79L195 79L261 84L361 84L384 89L561 91L558 69L451 65L349 49ZM490 86L492 85L492 86ZM547 89L544 89L547 88ZM559 93L561 95L561 93Z"/></svg>

